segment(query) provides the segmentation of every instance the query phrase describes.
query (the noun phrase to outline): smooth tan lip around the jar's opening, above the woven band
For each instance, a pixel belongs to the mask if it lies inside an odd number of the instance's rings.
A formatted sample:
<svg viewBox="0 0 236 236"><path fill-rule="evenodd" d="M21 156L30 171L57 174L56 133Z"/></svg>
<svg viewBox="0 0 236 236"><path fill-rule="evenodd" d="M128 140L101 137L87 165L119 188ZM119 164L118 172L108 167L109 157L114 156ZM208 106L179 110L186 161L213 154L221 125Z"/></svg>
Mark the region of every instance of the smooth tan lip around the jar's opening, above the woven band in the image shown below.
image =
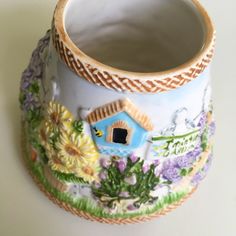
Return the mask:
<svg viewBox="0 0 236 236"><path fill-rule="evenodd" d="M131 72L122 69L115 68L99 62L98 60L88 56L84 53L75 43L71 40L65 28L65 10L70 0L59 0L54 12L53 26L55 27L61 42L70 50L70 52L81 60L82 63L92 65L99 71L107 71L109 74L116 74L119 77L128 77L129 79L140 80L162 80L168 77L178 76L179 74L188 71L193 65L205 61L206 55L212 54L215 46L215 27L214 24L199 0L189 0L196 7L196 10L200 13L203 24L205 26L205 38L202 48L187 62L181 64L172 69L168 69L161 72ZM64 59L64 58L62 58ZM210 61L207 62L209 64Z"/></svg>

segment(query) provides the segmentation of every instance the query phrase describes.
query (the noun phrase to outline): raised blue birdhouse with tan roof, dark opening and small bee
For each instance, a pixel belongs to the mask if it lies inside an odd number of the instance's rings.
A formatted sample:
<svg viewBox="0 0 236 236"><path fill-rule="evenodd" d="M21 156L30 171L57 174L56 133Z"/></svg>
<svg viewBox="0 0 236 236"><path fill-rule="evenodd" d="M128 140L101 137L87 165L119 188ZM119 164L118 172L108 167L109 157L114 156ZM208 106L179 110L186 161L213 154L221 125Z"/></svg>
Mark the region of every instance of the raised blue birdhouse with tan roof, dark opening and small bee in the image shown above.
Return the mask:
<svg viewBox="0 0 236 236"><path fill-rule="evenodd" d="M128 156L144 145L153 130L151 119L129 99L96 108L87 116L93 139L100 153Z"/></svg>

